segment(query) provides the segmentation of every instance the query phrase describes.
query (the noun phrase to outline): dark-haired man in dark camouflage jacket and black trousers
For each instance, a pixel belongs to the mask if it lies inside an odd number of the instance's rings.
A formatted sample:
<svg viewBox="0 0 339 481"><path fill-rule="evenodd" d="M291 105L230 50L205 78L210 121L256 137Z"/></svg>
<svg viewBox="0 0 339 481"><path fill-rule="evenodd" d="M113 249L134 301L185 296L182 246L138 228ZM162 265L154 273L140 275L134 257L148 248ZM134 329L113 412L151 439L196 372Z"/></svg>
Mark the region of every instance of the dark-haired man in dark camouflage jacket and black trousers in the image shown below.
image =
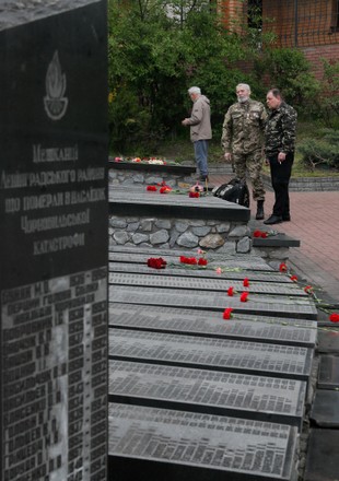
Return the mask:
<svg viewBox="0 0 339 481"><path fill-rule="evenodd" d="M283 102L278 89L266 96L270 109L265 129L265 153L270 165L271 181L276 195L272 215L264 224L290 221L289 181L294 161L294 144L297 114Z"/></svg>

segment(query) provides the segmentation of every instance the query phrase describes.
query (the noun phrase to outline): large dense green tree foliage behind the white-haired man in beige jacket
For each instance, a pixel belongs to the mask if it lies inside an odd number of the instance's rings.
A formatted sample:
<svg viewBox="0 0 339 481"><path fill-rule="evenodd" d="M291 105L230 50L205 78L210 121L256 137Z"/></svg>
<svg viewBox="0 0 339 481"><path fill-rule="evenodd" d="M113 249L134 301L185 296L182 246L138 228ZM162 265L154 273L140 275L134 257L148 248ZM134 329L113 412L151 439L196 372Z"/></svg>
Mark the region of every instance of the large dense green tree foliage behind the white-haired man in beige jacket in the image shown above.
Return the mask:
<svg viewBox="0 0 339 481"><path fill-rule="evenodd" d="M176 15L166 15L167 3L176 3ZM230 68L245 51L209 2L109 0L108 22L112 144L120 150L142 138L147 143L160 132L187 137L180 121L191 110L187 90L192 85L211 99L220 134L236 83L250 78Z"/></svg>

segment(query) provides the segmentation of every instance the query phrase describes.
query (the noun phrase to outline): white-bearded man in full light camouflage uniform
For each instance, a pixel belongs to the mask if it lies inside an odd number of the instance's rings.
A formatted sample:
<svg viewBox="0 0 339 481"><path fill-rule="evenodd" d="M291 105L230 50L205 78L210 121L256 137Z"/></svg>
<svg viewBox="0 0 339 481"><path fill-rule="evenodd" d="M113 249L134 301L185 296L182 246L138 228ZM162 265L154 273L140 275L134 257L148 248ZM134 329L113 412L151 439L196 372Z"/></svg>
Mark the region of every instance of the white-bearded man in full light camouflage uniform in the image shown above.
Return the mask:
<svg viewBox="0 0 339 481"><path fill-rule="evenodd" d="M257 201L256 219L261 220L265 201L261 168L267 113L260 102L249 98L250 87L246 83L236 86L236 96L237 103L225 115L221 143L225 160L232 160L236 177L245 180L248 174L253 198Z"/></svg>

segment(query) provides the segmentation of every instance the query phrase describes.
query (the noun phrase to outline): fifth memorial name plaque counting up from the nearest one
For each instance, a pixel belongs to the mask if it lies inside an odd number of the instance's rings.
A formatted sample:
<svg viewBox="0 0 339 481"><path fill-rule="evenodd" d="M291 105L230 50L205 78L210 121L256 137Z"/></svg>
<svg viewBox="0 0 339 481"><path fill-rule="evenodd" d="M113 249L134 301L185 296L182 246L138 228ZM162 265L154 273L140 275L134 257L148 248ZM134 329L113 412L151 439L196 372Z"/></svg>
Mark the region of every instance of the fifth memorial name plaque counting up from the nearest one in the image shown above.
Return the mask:
<svg viewBox="0 0 339 481"><path fill-rule="evenodd" d="M223 312L226 307L234 309L234 315L255 314L316 320L317 309L308 297L283 297L250 294L246 302L241 294L227 296L219 292L197 292L196 290L155 289L137 286L109 286L109 301L125 304L147 304L150 306L184 307ZM222 315L222 314L221 314Z"/></svg>

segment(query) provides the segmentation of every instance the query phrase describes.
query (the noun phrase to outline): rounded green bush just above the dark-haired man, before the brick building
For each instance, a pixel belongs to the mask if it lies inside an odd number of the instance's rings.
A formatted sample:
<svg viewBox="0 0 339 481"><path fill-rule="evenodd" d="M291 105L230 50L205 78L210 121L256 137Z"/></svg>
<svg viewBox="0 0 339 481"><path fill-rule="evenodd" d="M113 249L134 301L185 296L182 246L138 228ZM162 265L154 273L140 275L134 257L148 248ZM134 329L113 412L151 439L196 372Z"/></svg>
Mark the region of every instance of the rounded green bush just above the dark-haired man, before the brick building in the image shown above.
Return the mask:
<svg viewBox="0 0 339 481"><path fill-rule="evenodd" d="M320 83L311 72L309 63L301 50L292 48L267 49L255 60L255 71L264 81L269 77L271 86L280 89L288 103L299 113L312 113L313 102Z"/></svg>

